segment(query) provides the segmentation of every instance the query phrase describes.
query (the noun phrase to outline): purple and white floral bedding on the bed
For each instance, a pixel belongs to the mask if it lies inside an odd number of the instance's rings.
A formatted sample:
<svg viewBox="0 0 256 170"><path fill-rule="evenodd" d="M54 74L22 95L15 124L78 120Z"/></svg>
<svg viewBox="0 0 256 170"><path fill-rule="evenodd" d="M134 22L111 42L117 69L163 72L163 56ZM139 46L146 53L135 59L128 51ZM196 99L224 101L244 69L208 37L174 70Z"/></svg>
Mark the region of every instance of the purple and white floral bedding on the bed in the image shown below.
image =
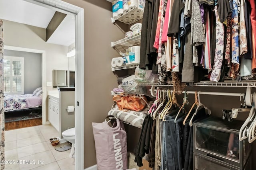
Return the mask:
<svg viewBox="0 0 256 170"><path fill-rule="evenodd" d="M42 104L42 97L33 94L8 94L4 96L4 111L20 110L38 107Z"/></svg>

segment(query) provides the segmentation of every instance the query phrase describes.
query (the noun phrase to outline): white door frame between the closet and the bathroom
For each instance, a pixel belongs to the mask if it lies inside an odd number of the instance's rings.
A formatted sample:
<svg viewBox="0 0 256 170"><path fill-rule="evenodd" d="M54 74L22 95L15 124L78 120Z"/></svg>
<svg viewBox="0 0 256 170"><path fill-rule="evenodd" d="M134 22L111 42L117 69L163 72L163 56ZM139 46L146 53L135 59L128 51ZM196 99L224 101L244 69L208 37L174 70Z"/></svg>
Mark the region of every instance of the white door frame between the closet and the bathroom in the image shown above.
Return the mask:
<svg viewBox="0 0 256 170"><path fill-rule="evenodd" d="M75 169L84 170L84 9L61 0L24 0L75 16Z"/></svg>

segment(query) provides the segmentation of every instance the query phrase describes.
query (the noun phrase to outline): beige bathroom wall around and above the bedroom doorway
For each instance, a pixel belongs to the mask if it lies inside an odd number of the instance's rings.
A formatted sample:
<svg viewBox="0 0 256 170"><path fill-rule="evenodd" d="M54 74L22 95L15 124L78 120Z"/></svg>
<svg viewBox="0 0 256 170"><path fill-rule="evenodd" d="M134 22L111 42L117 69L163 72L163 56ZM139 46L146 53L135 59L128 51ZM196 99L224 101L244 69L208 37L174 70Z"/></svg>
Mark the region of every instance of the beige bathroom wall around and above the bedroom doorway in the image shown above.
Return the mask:
<svg viewBox="0 0 256 170"><path fill-rule="evenodd" d="M46 29L4 20L4 45L46 51L46 82L52 82L53 69L68 69L68 58L66 57L68 47L46 43L45 39ZM74 57L69 60L72 63ZM71 64L70 68L74 70L74 66ZM53 88L46 87L44 93L48 94L48 90L53 90ZM47 103L48 99L46 99L46 121L48 121Z"/></svg>

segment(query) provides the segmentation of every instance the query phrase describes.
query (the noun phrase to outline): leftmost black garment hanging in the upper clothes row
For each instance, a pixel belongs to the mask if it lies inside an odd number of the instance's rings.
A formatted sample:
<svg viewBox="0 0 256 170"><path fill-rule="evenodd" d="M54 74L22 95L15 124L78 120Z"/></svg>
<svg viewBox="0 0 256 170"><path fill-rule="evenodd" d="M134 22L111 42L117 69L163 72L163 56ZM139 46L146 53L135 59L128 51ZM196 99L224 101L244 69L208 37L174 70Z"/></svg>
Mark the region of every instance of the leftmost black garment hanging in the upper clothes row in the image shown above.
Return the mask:
<svg viewBox="0 0 256 170"><path fill-rule="evenodd" d="M150 35L151 35L151 26L152 26L152 8L153 0L146 0L143 19L142 19L142 27L141 27L141 39L140 39L140 65L139 68L146 69L146 65L148 62L147 52L149 51L150 44Z"/></svg>

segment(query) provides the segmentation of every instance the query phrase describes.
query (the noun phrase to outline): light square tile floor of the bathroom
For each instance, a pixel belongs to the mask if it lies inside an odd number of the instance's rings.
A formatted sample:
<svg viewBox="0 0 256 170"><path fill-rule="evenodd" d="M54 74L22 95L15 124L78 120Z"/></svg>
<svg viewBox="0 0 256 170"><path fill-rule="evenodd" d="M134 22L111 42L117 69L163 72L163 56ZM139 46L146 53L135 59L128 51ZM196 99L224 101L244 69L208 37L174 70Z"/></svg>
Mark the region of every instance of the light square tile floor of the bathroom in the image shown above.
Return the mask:
<svg viewBox="0 0 256 170"><path fill-rule="evenodd" d="M70 150L59 152L50 144L49 139L56 136L52 125L5 131L5 160L9 164L4 170L74 170Z"/></svg>

